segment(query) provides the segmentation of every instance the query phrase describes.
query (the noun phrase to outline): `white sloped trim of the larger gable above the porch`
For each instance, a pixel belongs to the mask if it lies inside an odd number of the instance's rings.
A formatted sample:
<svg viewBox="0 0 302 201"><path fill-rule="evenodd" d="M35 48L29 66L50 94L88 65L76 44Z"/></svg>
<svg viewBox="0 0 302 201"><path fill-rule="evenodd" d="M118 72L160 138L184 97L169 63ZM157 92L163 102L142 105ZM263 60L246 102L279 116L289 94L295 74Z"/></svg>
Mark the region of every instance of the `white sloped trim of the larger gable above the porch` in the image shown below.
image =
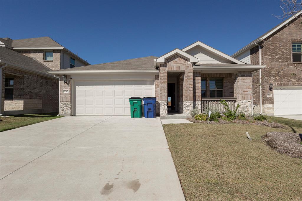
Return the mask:
<svg viewBox="0 0 302 201"><path fill-rule="evenodd" d="M189 52L191 49L196 48L196 47L200 47L202 49L205 49L206 52L213 54L214 56L216 56L217 58L220 58L221 61L226 61L226 63L237 63L237 64L244 64L243 62L239 61L238 59L235 59L223 52L220 52L217 49L214 49L213 47L210 47L200 41L197 41L187 47L185 47L184 49L182 49L182 51L184 52ZM217 60L217 59L216 59ZM222 63L222 62L221 62Z"/></svg>

